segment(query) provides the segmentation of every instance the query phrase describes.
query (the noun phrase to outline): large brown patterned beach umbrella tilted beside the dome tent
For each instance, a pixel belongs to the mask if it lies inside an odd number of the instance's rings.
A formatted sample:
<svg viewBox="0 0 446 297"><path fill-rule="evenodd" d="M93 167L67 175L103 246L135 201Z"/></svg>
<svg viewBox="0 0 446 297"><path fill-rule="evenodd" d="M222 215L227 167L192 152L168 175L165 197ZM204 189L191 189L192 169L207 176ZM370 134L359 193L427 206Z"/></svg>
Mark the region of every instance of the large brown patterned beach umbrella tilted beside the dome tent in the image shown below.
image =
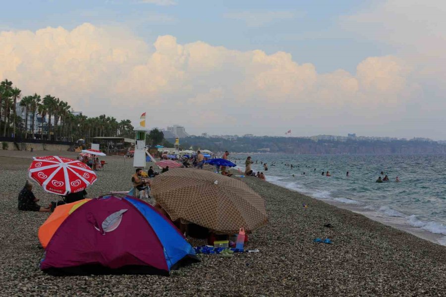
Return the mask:
<svg viewBox="0 0 446 297"><path fill-rule="evenodd" d="M154 179L151 193L173 221L220 233L253 231L268 221L263 198L242 181L207 170L169 170Z"/></svg>

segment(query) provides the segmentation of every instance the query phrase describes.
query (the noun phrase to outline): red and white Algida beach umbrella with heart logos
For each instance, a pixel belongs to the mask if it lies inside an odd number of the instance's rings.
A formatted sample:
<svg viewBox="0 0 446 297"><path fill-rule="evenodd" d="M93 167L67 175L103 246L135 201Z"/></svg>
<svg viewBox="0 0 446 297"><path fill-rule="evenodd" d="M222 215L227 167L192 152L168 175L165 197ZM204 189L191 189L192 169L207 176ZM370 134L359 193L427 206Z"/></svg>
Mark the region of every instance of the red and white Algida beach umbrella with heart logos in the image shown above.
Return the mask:
<svg viewBox="0 0 446 297"><path fill-rule="evenodd" d="M34 157L28 171L45 191L57 195L83 191L97 178L81 161L59 156Z"/></svg>

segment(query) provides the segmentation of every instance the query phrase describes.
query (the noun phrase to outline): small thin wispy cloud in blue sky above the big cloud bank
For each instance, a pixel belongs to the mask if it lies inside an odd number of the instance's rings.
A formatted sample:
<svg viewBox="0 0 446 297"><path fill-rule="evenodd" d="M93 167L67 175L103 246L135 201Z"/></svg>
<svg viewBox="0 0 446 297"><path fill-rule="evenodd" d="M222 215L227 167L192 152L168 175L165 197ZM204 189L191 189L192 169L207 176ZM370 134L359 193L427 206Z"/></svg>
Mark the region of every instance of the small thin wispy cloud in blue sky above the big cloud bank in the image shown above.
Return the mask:
<svg viewBox="0 0 446 297"><path fill-rule="evenodd" d="M302 13L295 13L293 11L241 11L225 13L223 16L229 19L241 20L249 27L260 27L274 21L292 19L302 15Z"/></svg>

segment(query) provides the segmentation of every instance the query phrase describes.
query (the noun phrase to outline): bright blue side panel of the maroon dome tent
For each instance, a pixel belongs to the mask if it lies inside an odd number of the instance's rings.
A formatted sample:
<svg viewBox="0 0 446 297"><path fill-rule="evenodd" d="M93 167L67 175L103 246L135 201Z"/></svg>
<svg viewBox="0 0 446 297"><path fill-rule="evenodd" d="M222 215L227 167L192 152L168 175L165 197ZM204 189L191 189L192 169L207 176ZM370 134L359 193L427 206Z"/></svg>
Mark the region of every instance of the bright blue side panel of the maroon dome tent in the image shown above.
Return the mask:
<svg viewBox="0 0 446 297"><path fill-rule="evenodd" d="M193 247L176 231L173 232L172 226L156 210L137 199L125 198L132 203L147 219L150 226L158 236L165 249L167 266L170 267L176 262L190 254L195 255Z"/></svg>

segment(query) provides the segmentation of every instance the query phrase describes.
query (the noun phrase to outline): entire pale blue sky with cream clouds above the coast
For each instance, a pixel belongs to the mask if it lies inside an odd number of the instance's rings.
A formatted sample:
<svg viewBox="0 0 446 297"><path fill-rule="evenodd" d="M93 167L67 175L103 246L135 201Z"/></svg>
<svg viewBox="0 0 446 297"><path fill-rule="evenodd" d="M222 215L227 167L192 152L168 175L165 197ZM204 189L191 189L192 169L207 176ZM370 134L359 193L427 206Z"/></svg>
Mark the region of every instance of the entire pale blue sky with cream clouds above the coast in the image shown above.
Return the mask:
<svg viewBox="0 0 446 297"><path fill-rule="evenodd" d="M145 111L149 128L195 135L446 139L446 1L0 5L0 79L87 116L138 125Z"/></svg>

